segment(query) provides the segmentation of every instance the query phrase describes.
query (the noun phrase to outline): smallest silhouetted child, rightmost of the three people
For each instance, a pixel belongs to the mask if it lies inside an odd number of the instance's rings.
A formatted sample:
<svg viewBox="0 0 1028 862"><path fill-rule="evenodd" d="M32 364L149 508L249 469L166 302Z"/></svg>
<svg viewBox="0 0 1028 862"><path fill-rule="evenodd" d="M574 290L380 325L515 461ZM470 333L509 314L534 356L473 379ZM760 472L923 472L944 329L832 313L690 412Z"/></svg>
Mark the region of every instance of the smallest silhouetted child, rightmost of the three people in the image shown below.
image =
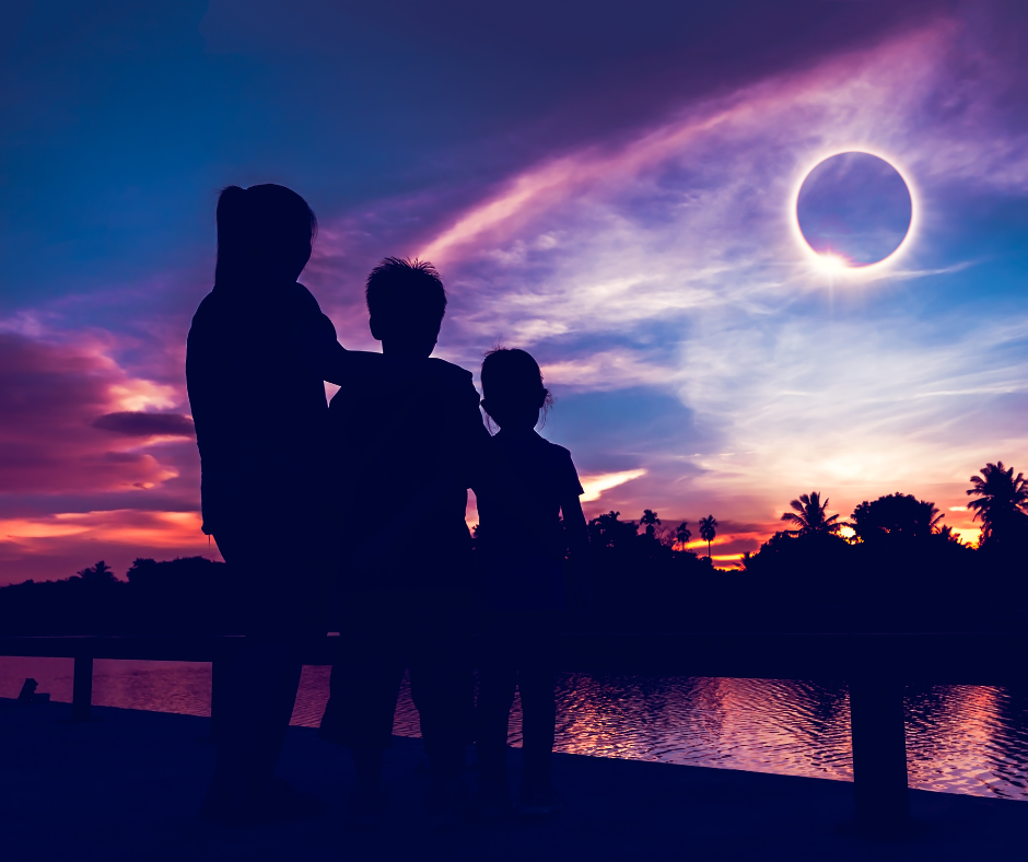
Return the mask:
<svg viewBox="0 0 1028 862"><path fill-rule="evenodd" d="M535 431L550 394L528 353L498 348L487 354L482 393L482 407L500 431L486 446L475 484L482 636L479 809L490 816L509 806L507 725L519 689L525 769L517 811L547 816L561 807L550 781L558 622L569 606L588 601L582 486L571 453Z"/></svg>

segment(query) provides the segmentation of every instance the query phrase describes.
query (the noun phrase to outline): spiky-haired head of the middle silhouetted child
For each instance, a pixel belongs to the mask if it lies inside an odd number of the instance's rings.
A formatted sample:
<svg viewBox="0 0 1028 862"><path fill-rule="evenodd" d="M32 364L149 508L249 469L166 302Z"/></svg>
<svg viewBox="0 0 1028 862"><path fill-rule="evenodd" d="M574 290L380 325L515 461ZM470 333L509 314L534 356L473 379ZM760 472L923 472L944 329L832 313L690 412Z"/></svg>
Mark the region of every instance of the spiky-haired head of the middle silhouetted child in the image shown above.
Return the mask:
<svg viewBox="0 0 1028 862"><path fill-rule="evenodd" d="M384 353L430 357L446 314L446 291L428 260L386 257L367 277L372 337Z"/></svg>

